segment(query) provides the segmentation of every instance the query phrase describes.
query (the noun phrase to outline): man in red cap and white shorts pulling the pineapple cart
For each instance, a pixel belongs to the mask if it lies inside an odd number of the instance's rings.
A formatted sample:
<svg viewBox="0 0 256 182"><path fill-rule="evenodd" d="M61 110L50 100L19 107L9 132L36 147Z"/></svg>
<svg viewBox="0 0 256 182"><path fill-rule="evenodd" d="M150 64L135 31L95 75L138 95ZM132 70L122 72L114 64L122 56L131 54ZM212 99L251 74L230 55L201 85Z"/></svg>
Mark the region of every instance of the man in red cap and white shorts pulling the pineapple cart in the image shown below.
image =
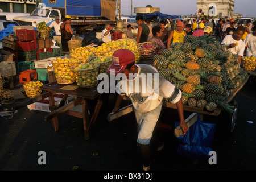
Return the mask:
<svg viewBox="0 0 256 182"><path fill-rule="evenodd" d="M118 97L112 113L117 113L125 96L129 97L133 104L138 126L137 144L142 153L143 170L148 171L151 160L151 138L162 110L163 98L176 104L183 134L188 131L188 126L184 122L181 91L159 75L155 67L135 64L135 55L129 49L119 49L113 53L112 64L107 72L111 76L118 76L120 80L115 87ZM158 143L158 151L160 151L163 149L163 143Z"/></svg>

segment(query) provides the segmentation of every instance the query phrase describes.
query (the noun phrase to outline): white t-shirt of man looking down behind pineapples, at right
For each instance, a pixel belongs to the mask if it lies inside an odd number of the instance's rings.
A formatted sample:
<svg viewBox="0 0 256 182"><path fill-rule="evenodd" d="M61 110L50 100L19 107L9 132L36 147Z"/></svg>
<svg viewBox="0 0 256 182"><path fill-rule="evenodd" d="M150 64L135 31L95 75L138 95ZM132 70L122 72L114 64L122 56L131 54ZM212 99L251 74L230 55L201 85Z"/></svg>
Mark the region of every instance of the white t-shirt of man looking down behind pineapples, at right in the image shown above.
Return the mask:
<svg viewBox="0 0 256 182"><path fill-rule="evenodd" d="M238 45L228 50L233 54L236 54L237 56L243 56L243 52L245 51L245 43L243 43L241 39L237 41L233 39L232 35L227 35L222 40L221 44L225 44L225 46L229 46L230 44L233 44L233 43L238 43Z"/></svg>

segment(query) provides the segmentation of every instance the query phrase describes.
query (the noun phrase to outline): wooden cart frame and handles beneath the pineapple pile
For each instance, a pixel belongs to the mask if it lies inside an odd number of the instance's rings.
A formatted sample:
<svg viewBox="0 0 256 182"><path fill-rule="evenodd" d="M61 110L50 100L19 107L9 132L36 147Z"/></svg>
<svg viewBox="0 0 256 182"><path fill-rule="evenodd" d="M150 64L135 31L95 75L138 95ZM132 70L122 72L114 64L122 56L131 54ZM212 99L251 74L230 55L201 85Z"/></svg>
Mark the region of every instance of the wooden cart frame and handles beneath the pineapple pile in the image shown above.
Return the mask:
<svg viewBox="0 0 256 182"><path fill-rule="evenodd" d="M249 75L246 76L245 80L238 86L238 88L236 88L228 97L226 97L226 102L234 106L233 113L228 113L227 111L224 111L224 110L222 111L220 108L214 110L213 112L210 112L210 111L205 111L204 109L201 109L199 107L184 105L183 106L184 111L188 111L192 113L187 119L185 119L185 122L188 124L188 126L193 125L193 123L195 123L197 119L197 115L195 115L195 113L199 113L201 121L203 121L203 115L211 115L213 117L218 117L221 113L224 113L225 118L228 118L228 121L227 121L228 123L226 123L228 125L228 131L226 131L226 133L228 134L233 133L234 126L236 124L236 115L237 115L237 102L233 98L243 88L243 86L246 84L248 79L249 79ZM125 97L124 99L127 99L127 98ZM177 109L176 104L171 104L169 102L163 102L163 107ZM110 113L108 115L108 121L113 121L114 119L118 119L119 117L122 117L123 115L126 115L128 113L131 113L132 111L134 111L134 108L133 108L133 105L130 104L126 107L123 107L122 109L119 109L119 111L115 114ZM171 129L170 125L166 125L160 122L157 123L156 127ZM176 137L179 137L182 134L180 127L177 127L174 132Z"/></svg>

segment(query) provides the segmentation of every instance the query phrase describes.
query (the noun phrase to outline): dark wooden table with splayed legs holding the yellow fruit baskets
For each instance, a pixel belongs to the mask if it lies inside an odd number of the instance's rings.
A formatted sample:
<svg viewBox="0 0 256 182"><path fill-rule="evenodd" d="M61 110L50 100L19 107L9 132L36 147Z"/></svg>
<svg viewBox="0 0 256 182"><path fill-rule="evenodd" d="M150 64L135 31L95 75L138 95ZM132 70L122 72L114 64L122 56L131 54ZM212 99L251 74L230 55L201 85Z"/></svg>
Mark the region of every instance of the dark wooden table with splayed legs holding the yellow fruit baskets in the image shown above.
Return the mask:
<svg viewBox="0 0 256 182"><path fill-rule="evenodd" d="M76 82L73 84L69 84L76 86ZM40 101L44 98L49 98L49 105L51 109L51 113L46 115L44 117L44 121L48 121L49 119L52 119L52 126L54 127L55 131L59 130L59 120L57 116L59 114L68 114L72 115L73 117L82 118L84 122L84 137L85 140L89 140L89 132L92 128L93 123L95 122L98 112L100 111L102 101L103 101L103 95L98 93L97 86L94 86L93 88L77 88L75 90L63 90L63 86L67 86L65 84L57 84L57 82L51 82L49 84L46 84L41 87L42 90L45 90L46 92L41 94L38 97L32 98L31 100L28 100L26 102L23 102L22 104L16 105L14 107L14 110L19 109L20 107L27 106L29 104L32 104L36 101ZM54 94L61 93L64 94L64 97L60 101L59 106L55 106L54 101ZM69 102L68 104L65 104L65 101L67 100L68 96L75 96L77 97L75 100ZM93 100L95 98L98 98L97 104L95 106L94 112L92 114L91 119L89 120L88 115L88 100ZM82 105L82 113L78 111L69 110L73 107L81 104Z"/></svg>

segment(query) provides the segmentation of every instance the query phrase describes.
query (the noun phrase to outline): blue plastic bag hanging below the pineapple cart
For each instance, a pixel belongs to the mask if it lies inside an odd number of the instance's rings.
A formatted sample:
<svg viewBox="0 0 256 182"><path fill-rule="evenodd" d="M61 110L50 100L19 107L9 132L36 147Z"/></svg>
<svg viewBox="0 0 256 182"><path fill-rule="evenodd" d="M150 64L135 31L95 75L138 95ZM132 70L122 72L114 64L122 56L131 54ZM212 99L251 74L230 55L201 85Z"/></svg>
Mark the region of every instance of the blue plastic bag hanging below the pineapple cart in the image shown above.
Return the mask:
<svg viewBox="0 0 256 182"><path fill-rule="evenodd" d="M175 122L175 127L179 126L179 123ZM210 145L213 142L215 129L216 124L200 121L197 113L197 121L189 127L185 135L177 137L180 143L177 147L176 155L208 160L209 152L212 151Z"/></svg>

